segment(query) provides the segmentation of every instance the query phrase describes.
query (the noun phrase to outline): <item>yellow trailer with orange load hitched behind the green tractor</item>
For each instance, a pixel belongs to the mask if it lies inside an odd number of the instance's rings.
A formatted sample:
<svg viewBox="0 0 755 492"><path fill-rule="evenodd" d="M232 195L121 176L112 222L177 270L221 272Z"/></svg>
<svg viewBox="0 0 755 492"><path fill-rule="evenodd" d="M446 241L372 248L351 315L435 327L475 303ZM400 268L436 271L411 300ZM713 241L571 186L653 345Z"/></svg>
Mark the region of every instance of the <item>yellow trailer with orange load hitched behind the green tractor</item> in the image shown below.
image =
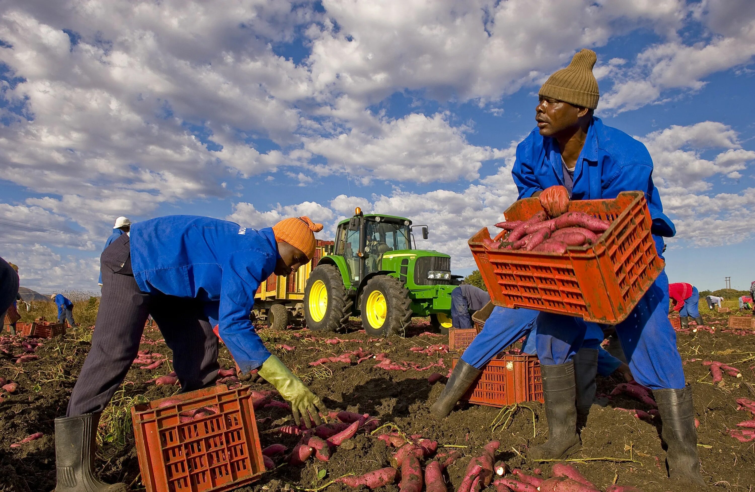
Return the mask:
<svg viewBox="0 0 755 492"><path fill-rule="evenodd" d="M334 241L317 240L315 256L294 275L270 275L260 284L254 296L252 318L267 321L275 330L285 330L292 321L304 321L304 288L320 258L331 254Z"/></svg>

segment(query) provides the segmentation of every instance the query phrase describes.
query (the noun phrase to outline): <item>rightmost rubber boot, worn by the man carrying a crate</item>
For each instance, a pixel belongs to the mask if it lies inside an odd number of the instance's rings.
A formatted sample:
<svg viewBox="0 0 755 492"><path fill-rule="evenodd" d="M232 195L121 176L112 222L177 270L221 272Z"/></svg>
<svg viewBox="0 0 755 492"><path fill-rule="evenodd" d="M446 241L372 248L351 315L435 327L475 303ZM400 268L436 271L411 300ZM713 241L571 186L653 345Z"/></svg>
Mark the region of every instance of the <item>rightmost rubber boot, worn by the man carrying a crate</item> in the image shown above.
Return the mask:
<svg viewBox="0 0 755 492"><path fill-rule="evenodd" d="M661 437L667 445L666 464L672 480L683 484L705 486L700 475L698 434L695 430L695 408L692 387L655 389L655 401L661 414Z"/></svg>

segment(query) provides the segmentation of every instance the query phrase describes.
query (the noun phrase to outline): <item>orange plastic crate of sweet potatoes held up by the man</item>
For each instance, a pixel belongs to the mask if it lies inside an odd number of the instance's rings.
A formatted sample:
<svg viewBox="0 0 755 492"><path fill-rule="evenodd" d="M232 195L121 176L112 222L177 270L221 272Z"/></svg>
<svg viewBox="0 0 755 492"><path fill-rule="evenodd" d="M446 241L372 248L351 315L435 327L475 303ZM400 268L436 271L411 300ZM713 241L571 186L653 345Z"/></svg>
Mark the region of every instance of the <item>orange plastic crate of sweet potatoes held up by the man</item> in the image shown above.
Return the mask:
<svg viewBox="0 0 755 492"><path fill-rule="evenodd" d="M526 220L543 210L538 198L516 201L506 220ZM611 222L597 244L570 247L565 254L495 249L469 240L482 279L497 306L537 309L618 324L664 269L650 234L650 213L642 192L622 192L612 200L574 200L582 211Z"/></svg>

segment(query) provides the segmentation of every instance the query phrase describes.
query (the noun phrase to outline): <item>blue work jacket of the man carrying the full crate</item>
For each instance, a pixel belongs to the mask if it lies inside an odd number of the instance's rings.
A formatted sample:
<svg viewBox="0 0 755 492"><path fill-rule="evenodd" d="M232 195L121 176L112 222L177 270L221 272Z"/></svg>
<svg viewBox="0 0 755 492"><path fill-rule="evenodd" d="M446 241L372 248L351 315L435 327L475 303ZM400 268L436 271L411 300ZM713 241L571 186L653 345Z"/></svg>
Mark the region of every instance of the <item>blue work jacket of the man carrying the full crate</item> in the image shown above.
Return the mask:
<svg viewBox="0 0 755 492"><path fill-rule="evenodd" d="M528 198L549 186L563 186L558 141L542 137L535 128L516 146L511 174L519 198ZM593 117L574 170L572 200L616 198L620 192L642 191L648 201L652 233L670 238L676 234L676 227L663 213L652 174L653 161L642 142Z"/></svg>

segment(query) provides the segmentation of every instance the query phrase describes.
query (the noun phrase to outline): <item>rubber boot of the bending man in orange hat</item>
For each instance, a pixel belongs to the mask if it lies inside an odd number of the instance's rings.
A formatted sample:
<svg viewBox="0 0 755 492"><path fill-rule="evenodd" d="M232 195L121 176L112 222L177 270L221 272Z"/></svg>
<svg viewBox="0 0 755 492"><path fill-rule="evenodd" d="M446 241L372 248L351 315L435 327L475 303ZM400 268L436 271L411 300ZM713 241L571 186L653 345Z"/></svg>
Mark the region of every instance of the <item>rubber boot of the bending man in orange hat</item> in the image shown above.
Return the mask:
<svg viewBox="0 0 755 492"><path fill-rule="evenodd" d="M55 492L126 492L126 484L94 478L94 447L100 414L55 419Z"/></svg>

